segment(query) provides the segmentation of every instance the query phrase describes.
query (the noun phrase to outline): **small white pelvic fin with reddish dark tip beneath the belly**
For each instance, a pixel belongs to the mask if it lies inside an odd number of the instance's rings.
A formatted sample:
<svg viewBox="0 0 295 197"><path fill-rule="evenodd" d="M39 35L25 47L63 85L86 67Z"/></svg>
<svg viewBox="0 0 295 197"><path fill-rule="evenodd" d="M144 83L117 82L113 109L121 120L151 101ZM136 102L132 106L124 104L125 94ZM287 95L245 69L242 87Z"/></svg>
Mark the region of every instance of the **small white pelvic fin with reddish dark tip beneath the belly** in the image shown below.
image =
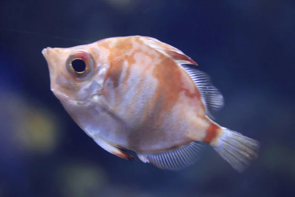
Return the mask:
<svg viewBox="0 0 295 197"><path fill-rule="evenodd" d="M135 160L135 158L131 154L127 153L121 147L110 144L109 142L106 142L105 140L103 140L101 138L95 137L93 139L101 148L105 149L109 153L117 155L118 157L125 159L125 160L129 160L129 161Z"/></svg>

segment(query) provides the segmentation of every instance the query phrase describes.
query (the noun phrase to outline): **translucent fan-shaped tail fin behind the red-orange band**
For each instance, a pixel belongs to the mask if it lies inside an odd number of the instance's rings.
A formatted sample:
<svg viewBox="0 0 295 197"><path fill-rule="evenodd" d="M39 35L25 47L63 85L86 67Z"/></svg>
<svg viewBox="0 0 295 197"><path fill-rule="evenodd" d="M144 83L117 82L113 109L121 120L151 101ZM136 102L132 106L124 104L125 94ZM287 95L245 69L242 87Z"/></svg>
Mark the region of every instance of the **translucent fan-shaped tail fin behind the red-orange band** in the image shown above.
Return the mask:
<svg viewBox="0 0 295 197"><path fill-rule="evenodd" d="M222 130L214 150L234 169L244 171L258 157L259 142L227 128Z"/></svg>

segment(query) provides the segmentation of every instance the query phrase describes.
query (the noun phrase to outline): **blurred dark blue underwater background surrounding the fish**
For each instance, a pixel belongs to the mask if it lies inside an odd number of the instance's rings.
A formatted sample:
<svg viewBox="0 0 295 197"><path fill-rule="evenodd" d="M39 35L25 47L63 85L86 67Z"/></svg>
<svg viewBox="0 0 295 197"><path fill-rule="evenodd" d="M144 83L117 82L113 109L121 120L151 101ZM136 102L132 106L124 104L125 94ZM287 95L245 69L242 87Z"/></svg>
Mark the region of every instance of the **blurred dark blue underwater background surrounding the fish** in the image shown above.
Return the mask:
<svg viewBox="0 0 295 197"><path fill-rule="evenodd" d="M216 122L257 139L236 172L210 147L165 171L108 153L50 90L41 50L113 36L171 44L207 72ZM1 0L0 197L295 197L294 0Z"/></svg>

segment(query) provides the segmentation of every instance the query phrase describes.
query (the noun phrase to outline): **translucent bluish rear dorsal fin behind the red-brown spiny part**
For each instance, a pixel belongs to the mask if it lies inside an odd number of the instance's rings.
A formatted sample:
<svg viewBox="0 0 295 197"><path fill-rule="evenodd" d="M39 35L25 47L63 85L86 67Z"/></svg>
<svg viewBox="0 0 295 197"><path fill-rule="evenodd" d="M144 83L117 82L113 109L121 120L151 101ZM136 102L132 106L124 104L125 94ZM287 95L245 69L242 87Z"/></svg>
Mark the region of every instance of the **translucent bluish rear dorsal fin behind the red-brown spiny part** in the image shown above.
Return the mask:
<svg viewBox="0 0 295 197"><path fill-rule="evenodd" d="M185 71L193 79L200 91L202 102L205 105L206 113L213 118L213 111L218 111L224 105L223 96L220 91L212 84L209 75L196 68L182 65Z"/></svg>

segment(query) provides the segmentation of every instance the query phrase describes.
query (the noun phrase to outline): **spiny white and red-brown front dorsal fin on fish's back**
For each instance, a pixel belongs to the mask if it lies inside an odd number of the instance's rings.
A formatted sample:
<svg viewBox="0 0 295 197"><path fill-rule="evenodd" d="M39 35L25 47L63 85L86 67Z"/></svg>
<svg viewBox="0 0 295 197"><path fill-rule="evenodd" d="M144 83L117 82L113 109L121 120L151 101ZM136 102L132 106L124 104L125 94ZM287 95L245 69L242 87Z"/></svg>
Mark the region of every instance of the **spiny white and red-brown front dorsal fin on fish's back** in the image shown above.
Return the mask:
<svg viewBox="0 0 295 197"><path fill-rule="evenodd" d="M161 42L160 40L147 36L139 36L139 39L148 46L159 51L160 53L172 58L179 65L192 64L198 66L198 64L195 61L193 61L190 57L188 57L182 51L169 44L166 44L164 42Z"/></svg>

